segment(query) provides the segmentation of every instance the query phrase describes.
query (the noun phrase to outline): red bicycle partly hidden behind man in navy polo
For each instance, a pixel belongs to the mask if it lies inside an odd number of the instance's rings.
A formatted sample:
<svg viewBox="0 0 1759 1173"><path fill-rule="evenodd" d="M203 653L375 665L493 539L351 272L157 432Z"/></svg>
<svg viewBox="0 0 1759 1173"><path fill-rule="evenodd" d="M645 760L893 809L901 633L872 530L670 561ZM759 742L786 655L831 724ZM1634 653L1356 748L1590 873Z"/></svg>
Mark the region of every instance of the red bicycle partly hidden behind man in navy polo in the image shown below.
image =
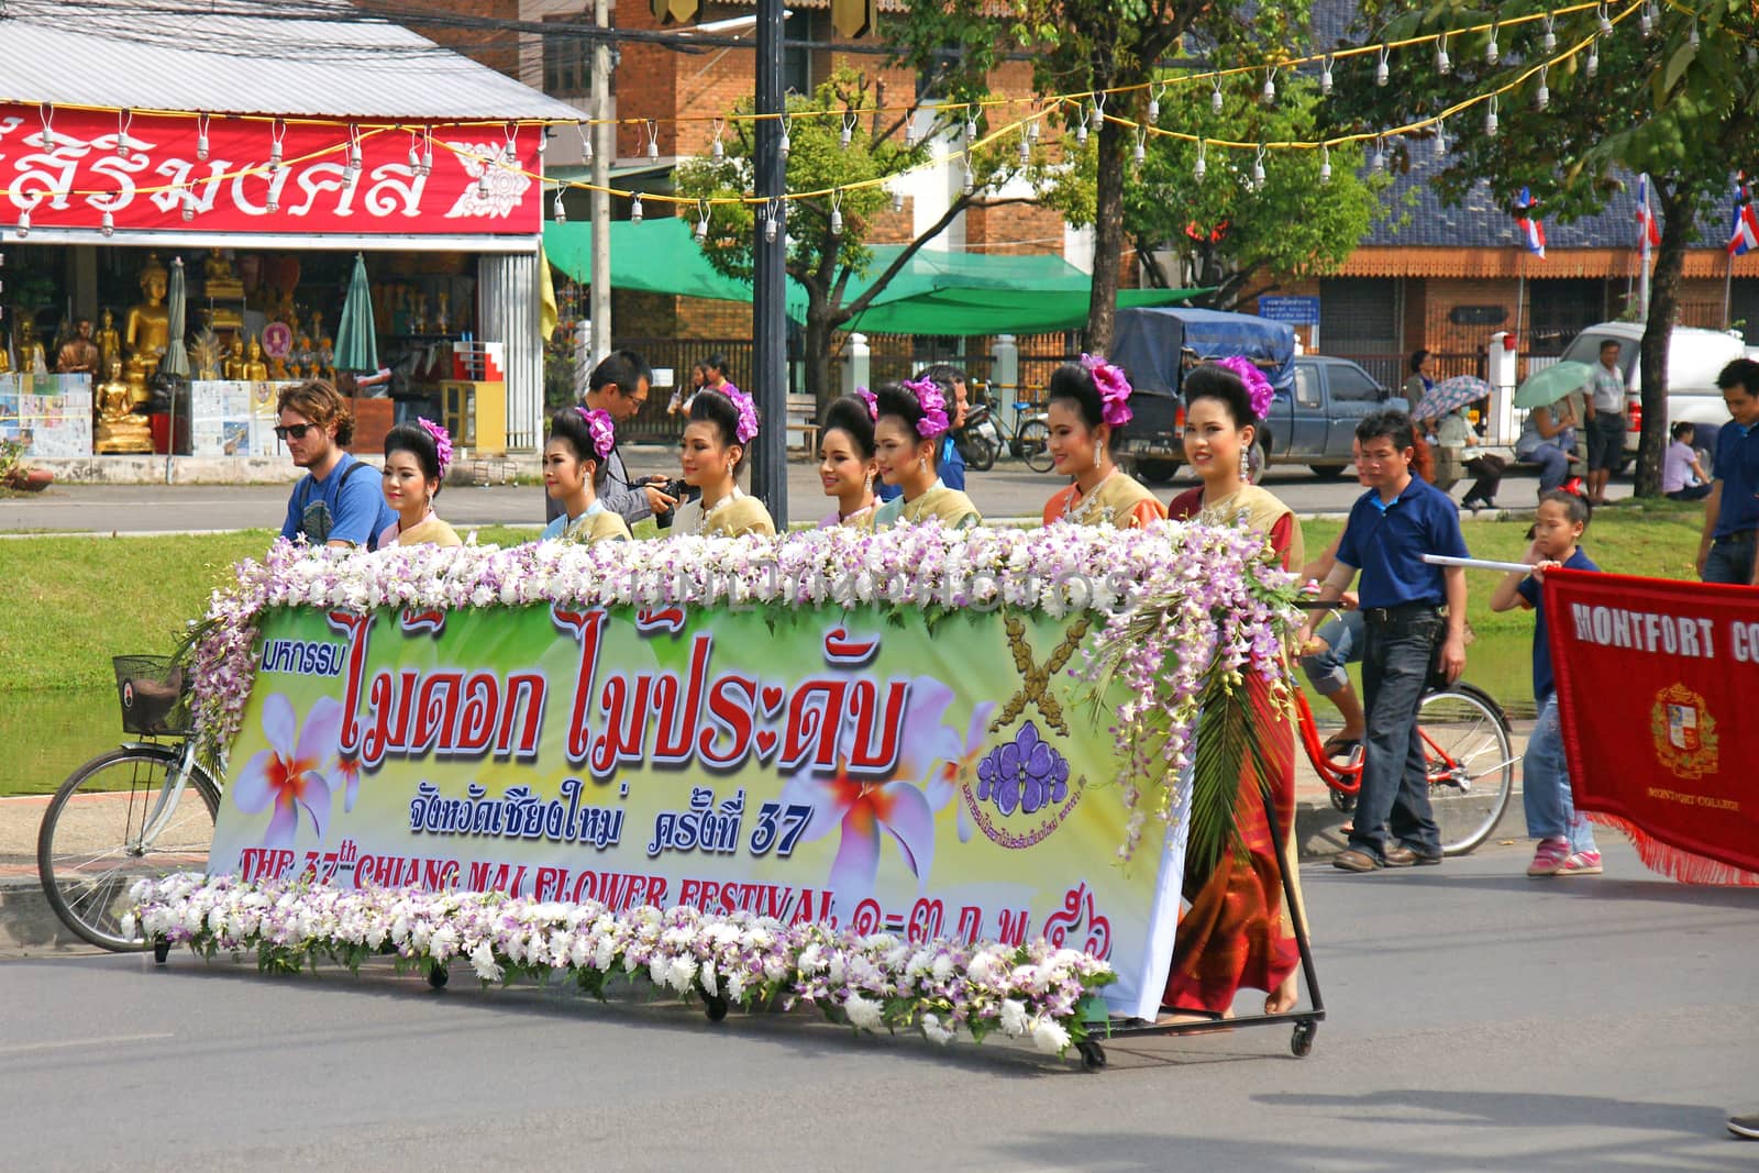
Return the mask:
<svg viewBox="0 0 1759 1173"><path fill-rule="evenodd" d="M1332 791L1332 805L1349 812L1361 791L1361 747L1344 761L1332 758L1319 740L1307 695L1295 689L1295 716L1302 749L1319 781ZM1428 765L1430 804L1442 827L1442 855L1465 855L1485 842L1502 821L1514 790L1509 719L1502 705L1481 688L1456 681L1423 696L1418 737ZM1448 837L1451 827L1460 834Z"/></svg>

